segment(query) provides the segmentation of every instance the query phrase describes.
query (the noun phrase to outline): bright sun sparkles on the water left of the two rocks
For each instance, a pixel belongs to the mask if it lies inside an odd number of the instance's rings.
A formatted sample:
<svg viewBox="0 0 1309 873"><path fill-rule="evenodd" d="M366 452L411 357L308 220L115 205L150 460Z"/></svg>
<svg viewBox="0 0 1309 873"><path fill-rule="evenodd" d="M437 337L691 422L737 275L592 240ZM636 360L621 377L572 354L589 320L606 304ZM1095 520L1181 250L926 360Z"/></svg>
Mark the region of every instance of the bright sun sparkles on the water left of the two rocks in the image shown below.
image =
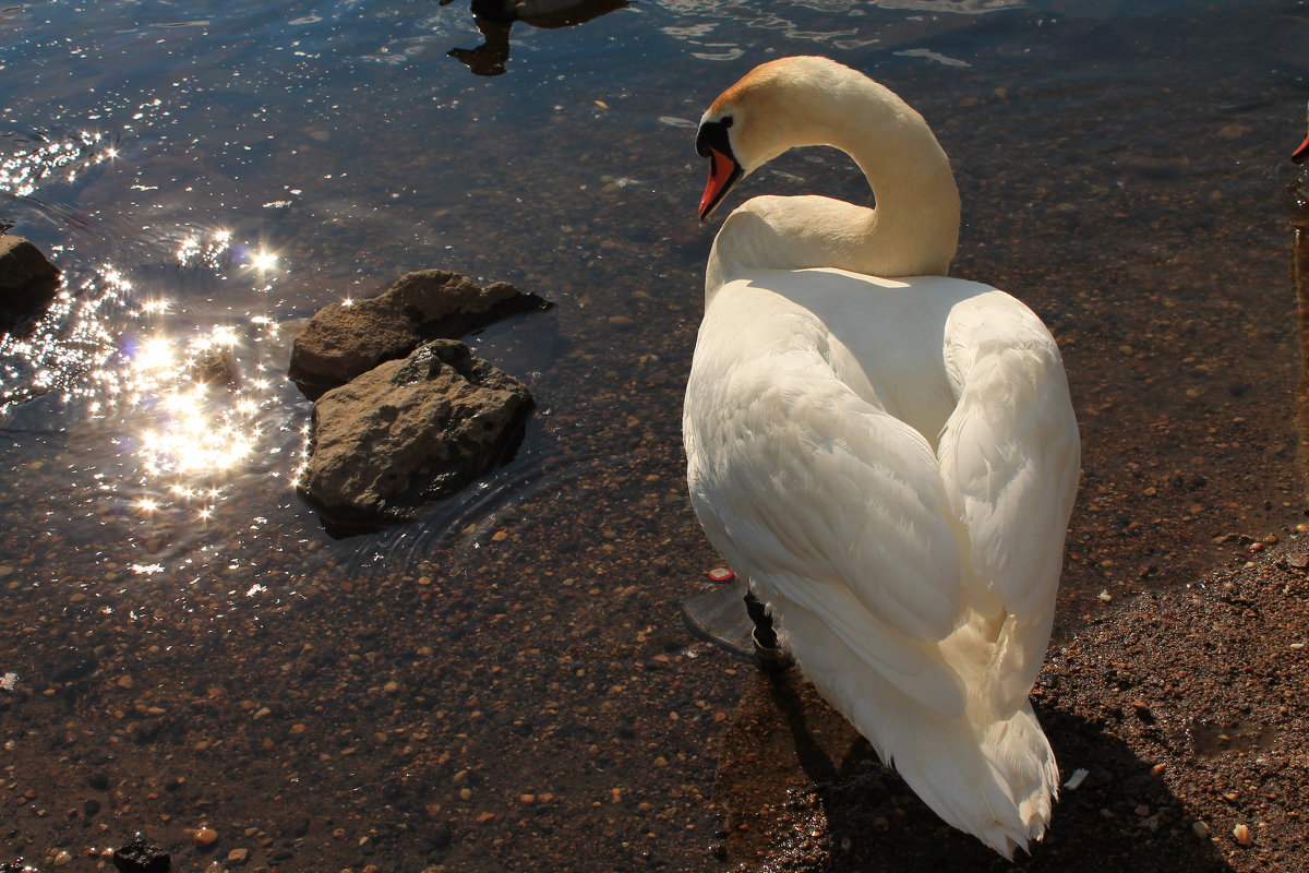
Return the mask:
<svg viewBox="0 0 1309 873"><path fill-rule="evenodd" d="M157 99L143 103L135 118L158 106ZM119 156L111 137L90 131L10 136L8 144L9 153L0 154L0 199L33 198ZM285 270L271 246L241 242L226 228L179 226L166 237L157 260L175 258L183 270L221 279L254 274L260 284ZM0 335L0 414L41 395L80 407L92 427L107 431L120 457L131 458L102 488L124 493L141 516L185 508L207 518L223 486L258 450L266 435L260 420L278 408L274 382L242 385L240 377L241 361L263 369L259 343L276 335L276 323L258 315L195 325L190 304L178 298L194 285L190 276L174 283L179 274L135 259L130 266L79 263L76 246L56 254L69 266L55 300L30 331ZM143 330L143 322L149 327Z"/></svg>

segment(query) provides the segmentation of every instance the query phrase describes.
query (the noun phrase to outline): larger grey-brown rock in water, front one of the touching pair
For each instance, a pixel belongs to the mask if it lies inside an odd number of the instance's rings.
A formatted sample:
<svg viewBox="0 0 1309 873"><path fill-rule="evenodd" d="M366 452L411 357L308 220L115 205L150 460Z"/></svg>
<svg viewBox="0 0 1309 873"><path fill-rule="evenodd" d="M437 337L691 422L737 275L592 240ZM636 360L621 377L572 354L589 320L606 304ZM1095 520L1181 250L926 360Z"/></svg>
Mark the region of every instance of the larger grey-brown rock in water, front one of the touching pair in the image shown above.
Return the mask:
<svg viewBox="0 0 1309 873"><path fill-rule="evenodd" d="M329 530L407 521L509 459L531 406L522 382L463 343L431 342L318 398L300 491Z"/></svg>

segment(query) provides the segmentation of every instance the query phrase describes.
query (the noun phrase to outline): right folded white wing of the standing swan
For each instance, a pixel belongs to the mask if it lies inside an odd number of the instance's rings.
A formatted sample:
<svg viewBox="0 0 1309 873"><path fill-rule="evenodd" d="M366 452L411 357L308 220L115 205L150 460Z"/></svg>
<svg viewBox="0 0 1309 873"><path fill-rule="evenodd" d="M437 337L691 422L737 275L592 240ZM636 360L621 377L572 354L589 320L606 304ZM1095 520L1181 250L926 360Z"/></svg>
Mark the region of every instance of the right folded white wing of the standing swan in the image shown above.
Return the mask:
<svg viewBox="0 0 1309 873"><path fill-rule="evenodd" d="M956 308L946 366L959 398L937 446L941 480L967 529L966 584L997 594L1009 614L990 670L994 702L1007 711L1025 699L1050 636L1077 488L1077 421L1054 339L1008 294Z"/></svg>

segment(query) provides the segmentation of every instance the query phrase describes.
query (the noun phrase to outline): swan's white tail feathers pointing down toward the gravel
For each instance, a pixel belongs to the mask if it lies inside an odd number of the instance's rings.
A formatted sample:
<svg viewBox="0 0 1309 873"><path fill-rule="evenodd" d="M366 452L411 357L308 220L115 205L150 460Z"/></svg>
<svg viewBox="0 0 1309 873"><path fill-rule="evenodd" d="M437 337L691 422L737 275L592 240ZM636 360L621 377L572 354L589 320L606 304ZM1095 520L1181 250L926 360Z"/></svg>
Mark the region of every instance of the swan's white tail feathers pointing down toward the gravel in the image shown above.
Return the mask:
<svg viewBox="0 0 1309 873"><path fill-rule="evenodd" d="M988 695L978 695L963 717L942 716L897 690L805 609L784 602L779 614L783 644L805 675L945 822L1011 860L1045 834L1059 768L1025 699L997 716Z"/></svg>

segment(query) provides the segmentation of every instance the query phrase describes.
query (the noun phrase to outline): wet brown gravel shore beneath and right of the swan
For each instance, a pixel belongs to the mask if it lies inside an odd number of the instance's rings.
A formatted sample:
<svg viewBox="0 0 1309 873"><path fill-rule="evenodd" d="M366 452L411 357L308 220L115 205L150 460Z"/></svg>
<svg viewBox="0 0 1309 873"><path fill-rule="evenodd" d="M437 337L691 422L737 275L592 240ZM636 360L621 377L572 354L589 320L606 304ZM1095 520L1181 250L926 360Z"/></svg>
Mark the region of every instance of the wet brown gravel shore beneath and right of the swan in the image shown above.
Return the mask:
<svg viewBox="0 0 1309 873"><path fill-rule="evenodd" d="M1033 699L1066 785L1014 865L941 823L793 670L754 674L717 852L779 872L1306 869L1306 565L1296 537L1052 647Z"/></svg>

